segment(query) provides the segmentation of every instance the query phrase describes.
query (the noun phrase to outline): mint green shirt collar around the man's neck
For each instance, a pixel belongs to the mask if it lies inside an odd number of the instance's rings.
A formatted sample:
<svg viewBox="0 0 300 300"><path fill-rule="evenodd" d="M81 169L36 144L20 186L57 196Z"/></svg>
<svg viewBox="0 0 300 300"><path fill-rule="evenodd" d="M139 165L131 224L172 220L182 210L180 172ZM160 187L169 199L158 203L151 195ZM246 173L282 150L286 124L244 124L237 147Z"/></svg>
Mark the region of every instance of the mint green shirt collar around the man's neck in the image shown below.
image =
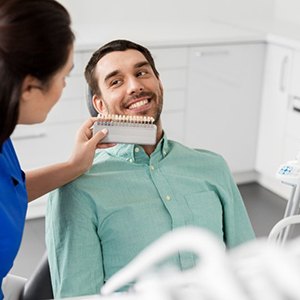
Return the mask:
<svg viewBox="0 0 300 300"><path fill-rule="evenodd" d="M135 163L147 163L150 159L161 160L169 152L169 141L165 134L158 142L154 152L149 157L142 146L136 144L117 144L115 147L108 148L107 151L111 156Z"/></svg>

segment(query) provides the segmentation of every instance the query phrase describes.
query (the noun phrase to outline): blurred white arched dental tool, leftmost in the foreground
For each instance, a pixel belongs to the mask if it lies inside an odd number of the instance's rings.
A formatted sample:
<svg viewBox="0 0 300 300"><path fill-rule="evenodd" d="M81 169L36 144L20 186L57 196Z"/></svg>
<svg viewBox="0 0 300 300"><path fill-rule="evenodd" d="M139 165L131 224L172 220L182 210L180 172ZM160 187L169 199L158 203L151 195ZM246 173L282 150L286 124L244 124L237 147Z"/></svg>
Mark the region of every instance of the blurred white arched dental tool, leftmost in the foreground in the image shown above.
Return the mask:
<svg viewBox="0 0 300 300"><path fill-rule="evenodd" d="M194 227L176 229L154 242L106 282L101 289L102 295L117 291L178 251L197 254L197 265L186 271L173 272L173 276L168 274L164 279L141 280L135 285L135 290L141 291L152 285L152 288L176 288L178 293L188 289L196 294L202 290L207 296L205 299L247 299L226 259L224 245L208 231Z"/></svg>

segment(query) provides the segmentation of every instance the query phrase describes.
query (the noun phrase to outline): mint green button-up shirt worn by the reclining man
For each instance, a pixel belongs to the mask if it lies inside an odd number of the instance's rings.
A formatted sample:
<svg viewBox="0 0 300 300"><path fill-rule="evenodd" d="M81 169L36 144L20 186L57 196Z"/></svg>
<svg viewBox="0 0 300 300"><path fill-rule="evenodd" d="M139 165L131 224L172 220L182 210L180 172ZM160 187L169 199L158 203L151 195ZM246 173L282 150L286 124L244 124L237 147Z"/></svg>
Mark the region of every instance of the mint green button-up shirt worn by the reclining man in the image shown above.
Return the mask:
<svg viewBox="0 0 300 300"><path fill-rule="evenodd" d="M56 297L99 293L114 273L164 233L207 228L234 247L254 238L240 193L219 155L163 138L96 154L92 168L50 195L46 242ZM169 262L182 269L195 257Z"/></svg>

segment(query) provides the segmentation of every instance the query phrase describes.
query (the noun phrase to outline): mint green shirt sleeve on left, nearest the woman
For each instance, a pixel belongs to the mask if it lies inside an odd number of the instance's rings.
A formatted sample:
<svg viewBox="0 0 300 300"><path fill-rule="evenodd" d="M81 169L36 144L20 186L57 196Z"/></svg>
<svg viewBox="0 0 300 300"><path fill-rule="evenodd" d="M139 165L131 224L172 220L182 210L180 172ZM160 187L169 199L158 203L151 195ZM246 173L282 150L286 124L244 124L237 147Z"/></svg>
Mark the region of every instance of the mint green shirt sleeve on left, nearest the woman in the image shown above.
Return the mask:
<svg viewBox="0 0 300 300"><path fill-rule="evenodd" d="M93 207L92 201L71 184L49 196L46 244L55 298L98 294L103 285Z"/></svg>

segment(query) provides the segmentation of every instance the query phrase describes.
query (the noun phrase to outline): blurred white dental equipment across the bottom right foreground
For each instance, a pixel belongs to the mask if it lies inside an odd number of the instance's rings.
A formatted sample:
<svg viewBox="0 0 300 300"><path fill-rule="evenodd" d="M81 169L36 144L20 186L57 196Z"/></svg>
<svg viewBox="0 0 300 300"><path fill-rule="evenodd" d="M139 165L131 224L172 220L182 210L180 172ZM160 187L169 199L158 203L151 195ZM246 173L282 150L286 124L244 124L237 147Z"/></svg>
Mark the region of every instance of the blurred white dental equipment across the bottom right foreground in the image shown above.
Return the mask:
<svg viewBox="0 0 300 300"><path fill-rule="evenodd" d="M175 229L111 277L99 299L120 295L120 300L299 300L299 245L300 238L283 246L258 239L225 251L205 229ZM153 270L178 251L197 254L196 266L185 271ZM115 293L133 280L133 289Z"/></svg>

